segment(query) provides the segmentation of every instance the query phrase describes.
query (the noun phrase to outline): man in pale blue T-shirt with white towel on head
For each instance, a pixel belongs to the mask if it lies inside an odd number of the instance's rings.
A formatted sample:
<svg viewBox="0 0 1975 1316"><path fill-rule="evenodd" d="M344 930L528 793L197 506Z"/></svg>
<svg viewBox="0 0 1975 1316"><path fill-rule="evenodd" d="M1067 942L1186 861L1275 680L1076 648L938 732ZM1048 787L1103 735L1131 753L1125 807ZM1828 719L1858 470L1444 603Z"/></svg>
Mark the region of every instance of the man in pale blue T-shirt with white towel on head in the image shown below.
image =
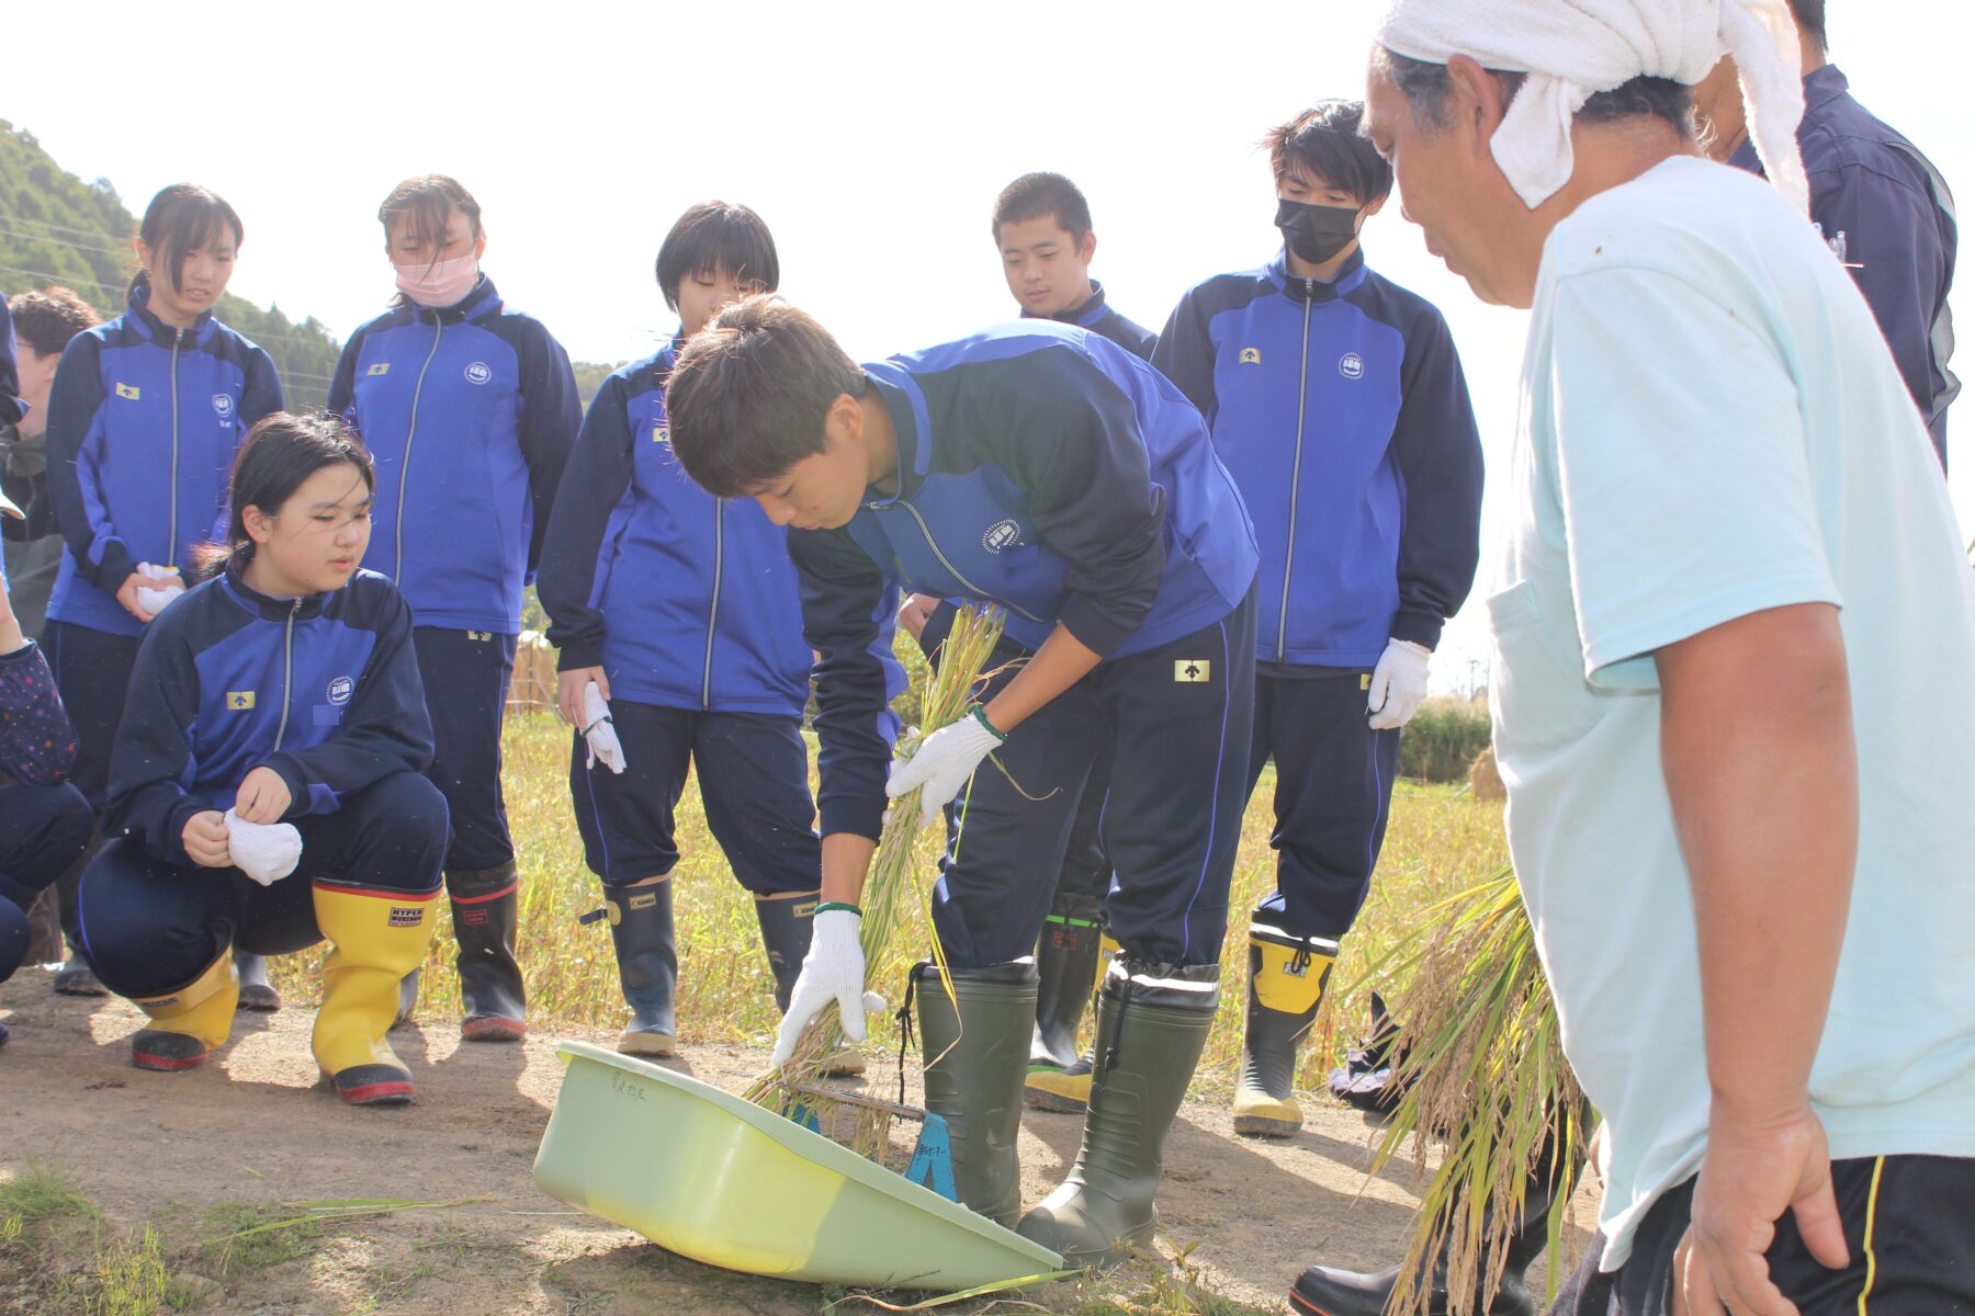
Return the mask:
<svg viewBox="0 0 1975 1316"><path fill-rule="evenodd" d="M1772 182L1693 140L1722 53ZM1797 73L1783 0L1396 0L1373 51L1406 217L1533 312L1495 754L1606 1121L1552 1312L1975 1312L1975 572Z"/></svg>

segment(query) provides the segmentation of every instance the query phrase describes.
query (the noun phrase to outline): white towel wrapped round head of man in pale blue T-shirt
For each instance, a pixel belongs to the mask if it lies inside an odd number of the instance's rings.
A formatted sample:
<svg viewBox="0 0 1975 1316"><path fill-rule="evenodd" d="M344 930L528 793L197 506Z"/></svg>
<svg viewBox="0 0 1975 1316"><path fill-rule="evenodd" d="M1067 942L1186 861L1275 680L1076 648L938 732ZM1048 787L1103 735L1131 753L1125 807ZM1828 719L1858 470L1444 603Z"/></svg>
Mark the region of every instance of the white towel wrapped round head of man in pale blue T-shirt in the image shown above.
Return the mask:
<svg viewBox="0 0 1975 1316"><path fill-rule="evenodd" d="M1756 154L1783 195L1811 211L1797 154L1803 61L1785 0L1390 0L1379 45L1529 75L1489 152L1531 209L1570 182L1570 120L1594 93L1635 77L1695 85L1734 55Z"/></svg>

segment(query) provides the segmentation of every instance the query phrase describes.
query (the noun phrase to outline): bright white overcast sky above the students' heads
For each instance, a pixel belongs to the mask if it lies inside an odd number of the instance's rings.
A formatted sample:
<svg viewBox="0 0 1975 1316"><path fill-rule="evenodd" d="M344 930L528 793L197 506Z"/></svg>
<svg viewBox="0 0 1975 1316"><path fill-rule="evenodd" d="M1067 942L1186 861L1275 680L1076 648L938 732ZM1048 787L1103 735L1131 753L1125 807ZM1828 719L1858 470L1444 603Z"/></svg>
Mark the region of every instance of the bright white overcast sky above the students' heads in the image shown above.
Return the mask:
<svg viewBox="0 0 1975 1316"><path fill-rule="evenodd" d="M1082 185L1094 272L1157 329L1193 282L1274 255L1254 140L1309 101L1363 95L1381 6L8 8L0 118L73 174L109 178L132 211L180 180L225 195L247 227L233 292L348 333L391 294L377 203L407 174L442 172L484 207L502 294L573 357L624 361L672 331L652 260L705 197L766 217L782 292L861 359L1007 318L989 209L1027 170ZM1853 91L1975 205L1971 36L1959 0L1831 0ZM115 81L83 89L81 57L113 59ZM1454 328L1493 527L1525 316L1477 304L1396 205L1365 247ZM1957 365L1975 381L1971 280L1963 260ZM1955 416L1955 501L1975 527L1975 393ZM1481 625L1469 602L1436 685L1479 673Z"/></svg>

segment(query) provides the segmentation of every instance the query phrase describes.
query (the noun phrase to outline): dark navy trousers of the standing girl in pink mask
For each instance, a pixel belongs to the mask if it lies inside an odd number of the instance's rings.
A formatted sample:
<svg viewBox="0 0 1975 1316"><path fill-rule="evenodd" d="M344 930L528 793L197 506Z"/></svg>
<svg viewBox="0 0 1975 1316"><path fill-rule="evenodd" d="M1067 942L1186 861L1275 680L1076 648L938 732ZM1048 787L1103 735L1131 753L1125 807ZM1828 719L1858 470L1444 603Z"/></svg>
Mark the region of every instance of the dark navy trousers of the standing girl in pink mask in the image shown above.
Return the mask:
<svg viewBox="0 0 1975 1316"><path fill-rule="evenodd" d="M433 766L425 769L452 811L446 870L480 872L514 858L500 789L500 724L514 675L514 635L415 625Z"/></svg>

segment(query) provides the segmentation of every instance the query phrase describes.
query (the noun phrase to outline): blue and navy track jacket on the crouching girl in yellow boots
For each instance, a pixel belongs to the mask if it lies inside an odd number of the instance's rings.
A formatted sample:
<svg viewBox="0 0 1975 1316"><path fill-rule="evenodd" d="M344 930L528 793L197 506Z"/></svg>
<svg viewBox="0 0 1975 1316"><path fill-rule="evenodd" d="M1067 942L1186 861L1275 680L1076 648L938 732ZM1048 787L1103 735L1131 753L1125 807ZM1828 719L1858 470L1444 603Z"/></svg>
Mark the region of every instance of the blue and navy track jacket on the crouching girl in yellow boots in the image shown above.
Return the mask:
<svg viewBox="0 0 1975 1316"><path fill-rule="evenodd" d="M255 768L280 773L296 819L431 762L411 608L389 580L359 570L334 594L280 600L227 568L144 635L107 819L186 864L186 821L231 809Z"/></svg>

